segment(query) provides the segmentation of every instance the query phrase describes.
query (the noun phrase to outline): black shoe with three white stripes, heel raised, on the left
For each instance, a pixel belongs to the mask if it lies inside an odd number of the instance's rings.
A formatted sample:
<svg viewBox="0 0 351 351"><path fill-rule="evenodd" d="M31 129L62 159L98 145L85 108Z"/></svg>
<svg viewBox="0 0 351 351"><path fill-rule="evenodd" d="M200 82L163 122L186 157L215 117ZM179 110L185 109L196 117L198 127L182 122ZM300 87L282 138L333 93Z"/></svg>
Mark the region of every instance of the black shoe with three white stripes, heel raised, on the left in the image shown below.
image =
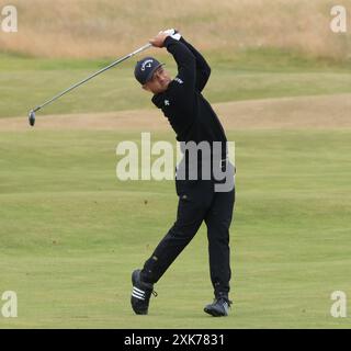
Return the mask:
<svg viewBox="0 0 351 351"><path fill-rule="evenodd" d="M151 294L157 296L157 293L154 292L154 284L141 281L140 270L135 270L132 273L132 308L137 315L147 315Z"/></svg>

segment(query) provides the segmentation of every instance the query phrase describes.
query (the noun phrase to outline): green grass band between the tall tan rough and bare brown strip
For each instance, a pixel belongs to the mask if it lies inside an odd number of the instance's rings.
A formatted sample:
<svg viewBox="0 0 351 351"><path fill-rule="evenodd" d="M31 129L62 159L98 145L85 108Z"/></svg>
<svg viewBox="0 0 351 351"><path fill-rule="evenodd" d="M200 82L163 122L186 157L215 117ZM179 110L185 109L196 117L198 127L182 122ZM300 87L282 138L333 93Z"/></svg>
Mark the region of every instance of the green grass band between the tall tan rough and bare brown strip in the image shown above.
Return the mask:
<svg viewBox="0 0 351 351"><path fill-rule="evenodd" d="M159 56L150 49L145 55ZM134 78L138 58L105 72L70 92L41 114L113 112L152 109L150 94ZM351 92L351 67L329 59L306 58L281 49L250 49L228 59L214 53L206 59L212 78L204 94L213 103L282 97ZM163 57L174 77L172 57ZM31 107L106 66L106 59L27 58L0 54L0 117L25 116Z"/></svg>

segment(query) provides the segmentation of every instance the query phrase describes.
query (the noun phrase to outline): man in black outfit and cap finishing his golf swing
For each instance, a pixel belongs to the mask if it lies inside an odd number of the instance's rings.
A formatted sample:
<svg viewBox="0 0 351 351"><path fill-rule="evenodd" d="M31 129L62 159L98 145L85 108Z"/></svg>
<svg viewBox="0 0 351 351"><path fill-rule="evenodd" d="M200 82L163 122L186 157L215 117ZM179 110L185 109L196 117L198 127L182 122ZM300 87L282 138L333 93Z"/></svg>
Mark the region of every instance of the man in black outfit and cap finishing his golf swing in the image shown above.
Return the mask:
<svg viewBox="0 0 351 351"><path fill-rule="evenodd" d="M172 80L162 64L152 57L146 57L136 64L135 78L145 90L154 94L152 102L162 110L176 132L177 140L183 146L184 157L176 172L179 196L177 220L146 260L144 268L132 273L132 307L138 315L148 313L149 299L155 293L154 284L205 222L215 298L204 310L215 317L227 316L231 304L228 296L231 275L229 226L235 203L235 168L228 161L227 138L220 122L201 93L208 80L211 68L203 56L174 30L160 32L150 39L150 44L167 48L177 63L178 75ZM219 143L219 152L218 148L212 147L207 158L191 160L186 146L199 146L203 143L211 146ZM199 177L200 169L201 176L204 176L203 166L208 163L208 159L212 165L211 176ZM216 191L216 185L223 183L223 179L215 177L217 168L233 179L233 185L225 191ZM193 171L197 179L192 178Z"/></svg>

